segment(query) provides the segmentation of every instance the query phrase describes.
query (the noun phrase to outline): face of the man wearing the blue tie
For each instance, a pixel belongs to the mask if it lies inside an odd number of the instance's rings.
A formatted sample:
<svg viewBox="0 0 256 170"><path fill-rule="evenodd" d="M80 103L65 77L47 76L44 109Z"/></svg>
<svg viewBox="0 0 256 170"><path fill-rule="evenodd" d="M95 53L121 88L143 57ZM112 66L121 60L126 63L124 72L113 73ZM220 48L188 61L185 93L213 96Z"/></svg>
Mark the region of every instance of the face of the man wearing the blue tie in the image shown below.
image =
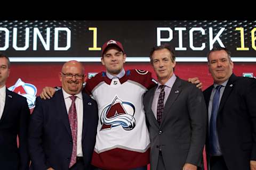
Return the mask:
<svg viewBox="0 0 256 170"><path fill-rule="evenodd" d="M215 83L221 84L229 79L234 64L225 50L211 52L208 61L209 71Z"/></svg>

